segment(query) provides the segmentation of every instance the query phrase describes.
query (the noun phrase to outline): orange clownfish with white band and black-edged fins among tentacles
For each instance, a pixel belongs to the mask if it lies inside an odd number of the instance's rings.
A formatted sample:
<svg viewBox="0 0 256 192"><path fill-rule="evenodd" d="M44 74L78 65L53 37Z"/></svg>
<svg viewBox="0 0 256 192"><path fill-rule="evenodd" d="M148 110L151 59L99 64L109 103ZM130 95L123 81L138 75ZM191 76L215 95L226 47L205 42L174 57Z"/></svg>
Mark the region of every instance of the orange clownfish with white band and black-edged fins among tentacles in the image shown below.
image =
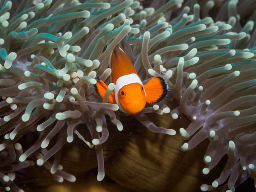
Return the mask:
<svg viewBox="0 0 256 192"><path fill-rule="evenodd" d="M108 102L117 104L124 113L140 113L146 103L158 103L168 96L169 79L157 76L143 84L134 65L119 46L116 46L111 54L110 68L115 88ZM98 77L95 79L96 93L103 98L108 86Z"/></svg>

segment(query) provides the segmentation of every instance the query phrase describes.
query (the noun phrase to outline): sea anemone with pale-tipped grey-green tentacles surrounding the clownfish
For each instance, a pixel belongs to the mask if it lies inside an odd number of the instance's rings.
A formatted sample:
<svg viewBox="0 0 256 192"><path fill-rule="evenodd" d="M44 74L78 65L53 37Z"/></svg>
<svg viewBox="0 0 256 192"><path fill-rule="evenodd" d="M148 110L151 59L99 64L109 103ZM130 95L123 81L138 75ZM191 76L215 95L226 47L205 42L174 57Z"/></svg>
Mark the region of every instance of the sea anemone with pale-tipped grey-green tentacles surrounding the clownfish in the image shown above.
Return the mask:
<svg viewBox="0 0 256 192"><path fill-rule="evenodd" d="M76 177L60 165L62 148L73 142L74 133L95 148L97 179L104 178L108 118L123 129L124 114L108 103L114 89L109 59L118 44L143 82L153 76L170 79L179 104L172 111L165 103L146 106L135 118L154 133L174 135L146 114L170 113L173 119L185 114L191 123L180 134L189 141L181 150L210 141L204 174L228 155L220 177L201 190L234 192L255 177L255 12L242 27L237 0L222 2L214 18L209 10L218 0L154 0L148 7L133 0L0 2L2 191L22 191L14 184L15 175L25 177L29 166L44 170L41 177L74 182ZM103 100L92 86L96 76L109 84ZM79 126L90 131L91 142Z"/></svg>

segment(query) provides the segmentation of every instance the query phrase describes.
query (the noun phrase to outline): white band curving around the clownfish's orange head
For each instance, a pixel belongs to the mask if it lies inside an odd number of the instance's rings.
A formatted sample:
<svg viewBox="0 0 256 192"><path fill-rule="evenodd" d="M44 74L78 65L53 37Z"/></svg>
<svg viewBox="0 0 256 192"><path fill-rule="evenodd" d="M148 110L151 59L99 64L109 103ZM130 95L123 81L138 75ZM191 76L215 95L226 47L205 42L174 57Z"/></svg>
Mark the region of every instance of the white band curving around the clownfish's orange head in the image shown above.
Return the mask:
<svg viewBox="0 0 256 192"><path fill-rule="evenodd" d="M116 104L119 106L119 109L124 113L126 113L126 112L123 110L122 106L119 103L118 92L120 89L122 89L123 86L132 84L132 83L139 83L143 86L142 81L140 80L139 76L135 73L121 76L116 80L116 85L115 85L115 89L114 89ZM147 98L144 86L143 86L143 90L144 90L145 96Z"/></svg>

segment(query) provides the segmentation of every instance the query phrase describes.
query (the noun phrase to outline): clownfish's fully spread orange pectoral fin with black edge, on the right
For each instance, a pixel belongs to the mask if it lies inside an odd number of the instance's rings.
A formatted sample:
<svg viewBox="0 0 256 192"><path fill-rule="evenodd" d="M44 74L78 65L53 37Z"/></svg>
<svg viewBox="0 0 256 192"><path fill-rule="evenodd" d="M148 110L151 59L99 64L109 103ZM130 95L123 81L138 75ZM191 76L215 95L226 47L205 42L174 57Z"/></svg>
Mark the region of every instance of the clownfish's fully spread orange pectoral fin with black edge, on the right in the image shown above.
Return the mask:
<svg viewBox="0 0 256 192"><path fill-rule="evenodd" d="M168 98L170 82L162 77L154 77L144 85L146 102L149 104L161 102Z"/></svg>

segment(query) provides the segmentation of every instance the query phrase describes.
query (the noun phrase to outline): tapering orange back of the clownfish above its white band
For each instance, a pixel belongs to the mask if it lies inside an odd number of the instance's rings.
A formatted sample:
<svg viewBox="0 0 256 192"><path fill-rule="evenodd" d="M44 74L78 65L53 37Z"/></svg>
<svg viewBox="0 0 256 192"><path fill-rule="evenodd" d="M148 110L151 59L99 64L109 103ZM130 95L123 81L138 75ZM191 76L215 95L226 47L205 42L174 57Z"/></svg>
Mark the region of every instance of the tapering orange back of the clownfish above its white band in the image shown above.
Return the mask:
<svg viewBox="0 0 256 192"><path fill-rule="evenodd" d="M137 72L125 52L117 45L111 55L111 79L116 84L116 80L131 73Z"/></svg>

